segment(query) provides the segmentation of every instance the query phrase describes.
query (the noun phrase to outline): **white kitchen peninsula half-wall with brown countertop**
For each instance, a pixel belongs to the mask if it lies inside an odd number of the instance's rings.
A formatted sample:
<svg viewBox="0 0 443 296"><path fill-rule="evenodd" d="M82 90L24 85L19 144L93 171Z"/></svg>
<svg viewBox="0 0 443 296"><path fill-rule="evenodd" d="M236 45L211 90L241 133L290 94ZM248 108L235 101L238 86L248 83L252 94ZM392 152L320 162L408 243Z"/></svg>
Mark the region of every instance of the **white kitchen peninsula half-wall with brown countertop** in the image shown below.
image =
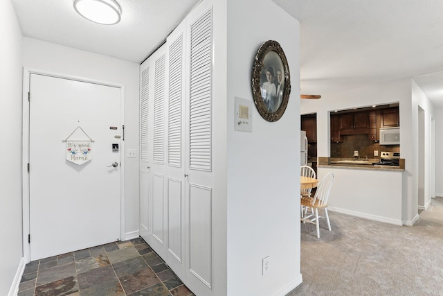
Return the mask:
<svg viewBox="0 0 443 296"><path fill-rule="evenodd" d="M401 216L404 159L399 166L374 166L372 160L356 161L318 157L318 179L335 175L328 209L339 213L404 225ZM370 162L370 163L369 163Z"/></svg>

